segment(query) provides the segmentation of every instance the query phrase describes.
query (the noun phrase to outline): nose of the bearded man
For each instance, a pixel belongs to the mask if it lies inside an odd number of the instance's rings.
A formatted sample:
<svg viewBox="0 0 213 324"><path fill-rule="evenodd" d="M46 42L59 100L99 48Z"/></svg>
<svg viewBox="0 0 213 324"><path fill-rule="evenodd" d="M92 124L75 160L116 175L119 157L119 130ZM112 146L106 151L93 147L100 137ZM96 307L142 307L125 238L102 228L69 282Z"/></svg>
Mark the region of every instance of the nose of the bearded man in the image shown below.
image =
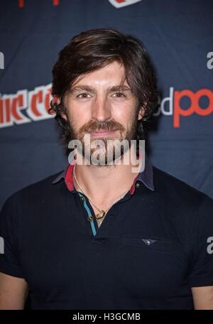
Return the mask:
<svg viewBox="0 0 213 324"><path fill-rule="evenodd" d="M111 118L111 105L105 97L96 97L92 105L92 119L99 122L107 121Z"/></svg>

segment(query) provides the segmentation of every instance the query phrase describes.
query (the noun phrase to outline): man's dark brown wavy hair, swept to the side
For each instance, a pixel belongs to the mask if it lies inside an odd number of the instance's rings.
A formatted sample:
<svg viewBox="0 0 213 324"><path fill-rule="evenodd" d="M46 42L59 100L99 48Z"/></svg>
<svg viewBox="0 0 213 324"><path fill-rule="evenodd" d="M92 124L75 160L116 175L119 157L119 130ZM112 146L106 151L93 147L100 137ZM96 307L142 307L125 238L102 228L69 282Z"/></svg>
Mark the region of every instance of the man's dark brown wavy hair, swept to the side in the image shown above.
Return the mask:
<svg viewBox="0 0 213 324"><path fill-rule="evenodd" d="M137 139L146 139L147 121L158 102L155 72L146 48L134 36L114 28L99 28L73 37L60 51L53 67L52 95L60 98L60 104L53 98L49 113L56 113L59 139L66 147L70 141L70 126L60 115L65 112L63 99L66 92L78 77L104 68L115 60L124 65L126 81L138 99L138 109L145 108L143 118L138 121Z"/></svg>

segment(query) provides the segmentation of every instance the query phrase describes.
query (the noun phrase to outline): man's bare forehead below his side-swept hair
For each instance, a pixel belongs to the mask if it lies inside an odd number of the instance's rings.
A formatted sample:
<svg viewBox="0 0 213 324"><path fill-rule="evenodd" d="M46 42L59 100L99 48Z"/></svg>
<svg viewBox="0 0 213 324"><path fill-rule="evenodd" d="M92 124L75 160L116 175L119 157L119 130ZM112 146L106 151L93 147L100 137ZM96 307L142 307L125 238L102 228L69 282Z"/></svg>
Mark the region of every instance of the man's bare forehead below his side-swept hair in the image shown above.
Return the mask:
<svg viewBox="0 0 213 324"><path fill-rule="evenodd" d="M104 68L100 68L78 77L72 87L75 87L76 85L83 85L85 83L94 86L121 85L123 82L124 85L128 86L125 76L126 72L124 65L114 61L104 66Z"/></svg>

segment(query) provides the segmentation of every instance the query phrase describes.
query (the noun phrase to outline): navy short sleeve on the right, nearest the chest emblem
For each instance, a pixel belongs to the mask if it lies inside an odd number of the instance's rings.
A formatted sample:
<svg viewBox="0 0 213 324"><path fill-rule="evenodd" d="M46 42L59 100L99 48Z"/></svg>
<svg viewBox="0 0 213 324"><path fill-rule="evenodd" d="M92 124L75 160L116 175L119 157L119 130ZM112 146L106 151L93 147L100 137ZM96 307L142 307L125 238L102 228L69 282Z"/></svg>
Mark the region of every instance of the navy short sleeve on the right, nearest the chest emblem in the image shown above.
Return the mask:
<svg viewBox="0 0 213 324"><path fill-rule="evenodd" d="M213 200L207 195L197 210L193 233L190 287L213 286Z"/></svg>

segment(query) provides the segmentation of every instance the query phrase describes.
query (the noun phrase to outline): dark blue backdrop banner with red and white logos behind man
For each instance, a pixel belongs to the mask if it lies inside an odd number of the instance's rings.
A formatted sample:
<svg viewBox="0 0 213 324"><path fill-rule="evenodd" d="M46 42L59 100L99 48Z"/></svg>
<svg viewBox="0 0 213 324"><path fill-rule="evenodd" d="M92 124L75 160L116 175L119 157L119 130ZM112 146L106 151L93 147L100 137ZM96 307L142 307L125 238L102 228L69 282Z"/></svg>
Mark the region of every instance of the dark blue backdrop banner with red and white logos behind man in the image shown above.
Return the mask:
<svg viewBox="0 0 213 324"><path fill-rule="evenodd" d="M51 71L70 39L92 28L143 41L160 91L148 157L213 198L212 0L1 0L0 15L0 209L67 166L48 114Z"/></svg>

